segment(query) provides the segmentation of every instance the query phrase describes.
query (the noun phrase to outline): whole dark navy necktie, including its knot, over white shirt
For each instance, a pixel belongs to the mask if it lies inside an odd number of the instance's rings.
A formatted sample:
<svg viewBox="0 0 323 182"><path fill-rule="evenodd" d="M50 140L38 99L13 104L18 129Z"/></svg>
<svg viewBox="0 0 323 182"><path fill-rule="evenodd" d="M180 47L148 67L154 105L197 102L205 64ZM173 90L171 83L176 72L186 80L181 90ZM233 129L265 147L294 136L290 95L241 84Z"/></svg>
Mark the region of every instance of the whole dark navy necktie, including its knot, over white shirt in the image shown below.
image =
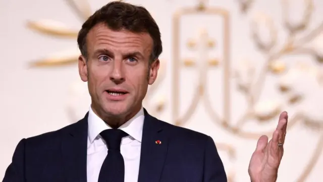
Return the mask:
<svg viewBox="0 0 323 182"><path fill-rule="evenodd" d="M106 129L100 133L108 151L103 161L98 182L124 182L125 162L120 153L121 139L128 134L121 129Z"/></svg>

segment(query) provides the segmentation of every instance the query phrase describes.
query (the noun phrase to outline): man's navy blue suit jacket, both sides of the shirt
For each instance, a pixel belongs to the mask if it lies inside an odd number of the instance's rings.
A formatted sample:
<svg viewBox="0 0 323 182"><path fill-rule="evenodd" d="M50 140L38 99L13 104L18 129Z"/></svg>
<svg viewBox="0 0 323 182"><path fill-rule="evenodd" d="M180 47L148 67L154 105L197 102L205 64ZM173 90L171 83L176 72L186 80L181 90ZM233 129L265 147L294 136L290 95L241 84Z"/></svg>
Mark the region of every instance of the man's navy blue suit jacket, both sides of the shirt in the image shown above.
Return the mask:
<svg viewBox="0 0 323 182"><path fill-rule="evenodd" d="M3 182L86 182L87 115L21 140ZM227 176L210 136L160 121L145 110L138 181L227 182Z"/></svg>

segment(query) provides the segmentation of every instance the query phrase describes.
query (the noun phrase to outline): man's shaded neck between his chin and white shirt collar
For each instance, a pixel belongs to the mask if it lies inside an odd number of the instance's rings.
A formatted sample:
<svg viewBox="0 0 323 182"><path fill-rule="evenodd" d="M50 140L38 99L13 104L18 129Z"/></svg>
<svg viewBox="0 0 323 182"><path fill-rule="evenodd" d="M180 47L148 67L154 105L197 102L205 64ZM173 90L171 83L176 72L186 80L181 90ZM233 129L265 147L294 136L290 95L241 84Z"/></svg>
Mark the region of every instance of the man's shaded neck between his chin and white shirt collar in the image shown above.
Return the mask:
<svg viewBox="0 0 323 182"><path fill-rule="evenodd" d="M91 104L91 108L93 112L101 118L107 125L109 125L112 128L119 128L121 125L129 121L132 117L134 117L141 109L140 107L135 107L131 111L114 115L111 113L106 113L102 109L96 109L96 107Z"/></svg>

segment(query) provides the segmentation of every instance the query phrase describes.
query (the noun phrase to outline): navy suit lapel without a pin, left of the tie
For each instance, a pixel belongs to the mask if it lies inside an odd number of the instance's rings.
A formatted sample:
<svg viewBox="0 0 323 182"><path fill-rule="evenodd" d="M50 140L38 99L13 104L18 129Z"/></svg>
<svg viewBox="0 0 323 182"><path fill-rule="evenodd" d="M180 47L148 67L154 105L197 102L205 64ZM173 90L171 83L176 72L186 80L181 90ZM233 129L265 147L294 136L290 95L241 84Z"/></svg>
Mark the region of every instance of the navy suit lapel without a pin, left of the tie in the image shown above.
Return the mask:
<svg viewBox="0 0 323 182"><path fill-rule="evenodd" d="M67 136L63 137L62 155L66 181L86 181L87 161L87 116L74 123Z"/></svg>

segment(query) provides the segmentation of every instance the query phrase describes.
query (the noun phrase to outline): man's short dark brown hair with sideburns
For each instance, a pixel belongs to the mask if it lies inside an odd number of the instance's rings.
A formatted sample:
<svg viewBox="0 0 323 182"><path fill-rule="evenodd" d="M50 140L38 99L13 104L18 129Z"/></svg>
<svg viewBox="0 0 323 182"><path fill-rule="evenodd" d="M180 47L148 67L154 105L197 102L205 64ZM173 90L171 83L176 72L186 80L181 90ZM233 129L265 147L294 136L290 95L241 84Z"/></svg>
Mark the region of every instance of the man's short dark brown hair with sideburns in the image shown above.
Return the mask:
<svg viewBox="0 0 323 182"><path fill-rule="evenodd" d="M110 2L91 15L78 33L78 47L85 57L87 57L86 36L98 23L104 23L114 31L125 29L135 33L148 33L153 40L150 63L163 52L158 25L144 7L124 2Z"/></svg>

